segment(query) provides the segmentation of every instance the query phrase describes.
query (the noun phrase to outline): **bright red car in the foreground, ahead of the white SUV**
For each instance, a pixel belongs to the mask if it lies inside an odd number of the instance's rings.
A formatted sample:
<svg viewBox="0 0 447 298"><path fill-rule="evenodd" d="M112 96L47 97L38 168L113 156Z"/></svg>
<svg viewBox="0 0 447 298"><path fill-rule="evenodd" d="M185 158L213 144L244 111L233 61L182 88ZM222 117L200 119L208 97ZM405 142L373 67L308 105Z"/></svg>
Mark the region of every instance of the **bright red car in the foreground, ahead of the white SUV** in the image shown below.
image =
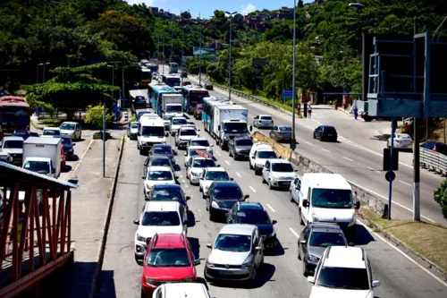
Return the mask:
<svg viewBox="0 0 447 298"><path fill-rule="evenodd" d="M198 264L185 234L155 234L144 256L141 297L153 294L158 285L196 283Z"/></svg>

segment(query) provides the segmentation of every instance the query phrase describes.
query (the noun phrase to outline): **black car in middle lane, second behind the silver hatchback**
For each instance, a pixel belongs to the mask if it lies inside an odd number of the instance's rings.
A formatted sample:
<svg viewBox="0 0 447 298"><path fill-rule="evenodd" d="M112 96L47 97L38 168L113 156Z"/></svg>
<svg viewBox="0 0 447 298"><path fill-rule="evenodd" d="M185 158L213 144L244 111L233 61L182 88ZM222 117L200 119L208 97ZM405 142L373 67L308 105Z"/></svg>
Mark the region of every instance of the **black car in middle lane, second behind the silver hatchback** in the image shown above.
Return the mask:
<svg viewBox="0 0 447 298"><path fill-rule="evenodd" d="M249 195L243 194L238 183L233 181L214 181L206 194L209 220L218 216L226 216L232 205L244 201Z"/></svg>

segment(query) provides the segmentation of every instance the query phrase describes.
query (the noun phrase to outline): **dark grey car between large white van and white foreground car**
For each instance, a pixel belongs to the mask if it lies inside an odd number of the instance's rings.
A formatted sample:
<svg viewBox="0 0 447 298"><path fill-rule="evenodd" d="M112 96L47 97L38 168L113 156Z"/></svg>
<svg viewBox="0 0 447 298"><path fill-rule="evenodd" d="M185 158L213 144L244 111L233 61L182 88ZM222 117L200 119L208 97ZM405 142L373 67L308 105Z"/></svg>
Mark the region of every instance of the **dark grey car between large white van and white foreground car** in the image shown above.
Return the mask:
<svg viewBox="0 0 447 298"><path fill-rule="evenodd" d="M348 241L340 226L330 223L313 223L303 229L298 239L298 259L303 260L305 277L314 275L316 264L328 246L348 246Z"/></svg>

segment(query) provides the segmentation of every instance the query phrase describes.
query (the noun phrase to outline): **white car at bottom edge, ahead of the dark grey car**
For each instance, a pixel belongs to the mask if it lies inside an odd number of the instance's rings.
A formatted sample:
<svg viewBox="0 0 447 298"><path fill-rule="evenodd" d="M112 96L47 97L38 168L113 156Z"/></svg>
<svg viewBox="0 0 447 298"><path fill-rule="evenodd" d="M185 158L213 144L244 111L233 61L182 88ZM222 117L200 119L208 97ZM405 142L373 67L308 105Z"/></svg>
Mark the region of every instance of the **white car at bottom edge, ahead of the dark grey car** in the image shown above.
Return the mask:
<svg viewBox="0 0 447 298"><path fill-rule="evenodd" d="M329 246L316 266L309 298L352 297L374 298L373 269L367 251L360 247Z"/></svg>

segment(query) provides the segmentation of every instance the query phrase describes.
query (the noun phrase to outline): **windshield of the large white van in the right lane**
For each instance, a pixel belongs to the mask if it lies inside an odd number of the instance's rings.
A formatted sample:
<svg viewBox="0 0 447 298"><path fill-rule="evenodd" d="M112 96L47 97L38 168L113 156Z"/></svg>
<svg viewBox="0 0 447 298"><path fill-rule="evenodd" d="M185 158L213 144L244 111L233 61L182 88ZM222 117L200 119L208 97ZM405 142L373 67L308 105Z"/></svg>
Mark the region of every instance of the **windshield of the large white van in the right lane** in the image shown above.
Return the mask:
<svg viewBox="0 0 447 298"><path fill-rule="evenodd" d="M350 190L329 190L316 188L312 191L312 206L315 208L352 208Z"/></svg>

